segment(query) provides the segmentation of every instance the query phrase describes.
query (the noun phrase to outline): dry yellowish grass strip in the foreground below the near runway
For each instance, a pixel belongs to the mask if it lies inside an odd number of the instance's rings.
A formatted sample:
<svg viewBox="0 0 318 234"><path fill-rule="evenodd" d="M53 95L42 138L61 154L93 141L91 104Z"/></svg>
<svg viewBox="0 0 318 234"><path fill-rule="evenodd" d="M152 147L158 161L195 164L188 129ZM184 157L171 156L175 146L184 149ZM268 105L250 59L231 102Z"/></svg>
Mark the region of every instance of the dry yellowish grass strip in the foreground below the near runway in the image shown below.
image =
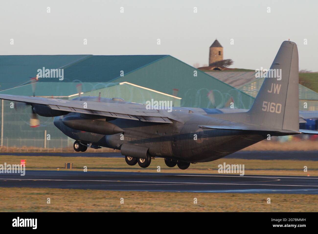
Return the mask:
<svg viewBox="0 0 318 234"><path fill-rule="evenodd" d="M51 204L47 204L50 198ZM121 204L121 198L124 204ZM197 198L197 204L194 204ZM267 204L267 198L271 204ZM317 212L318 196L1 188L1 212Z"/></svg>

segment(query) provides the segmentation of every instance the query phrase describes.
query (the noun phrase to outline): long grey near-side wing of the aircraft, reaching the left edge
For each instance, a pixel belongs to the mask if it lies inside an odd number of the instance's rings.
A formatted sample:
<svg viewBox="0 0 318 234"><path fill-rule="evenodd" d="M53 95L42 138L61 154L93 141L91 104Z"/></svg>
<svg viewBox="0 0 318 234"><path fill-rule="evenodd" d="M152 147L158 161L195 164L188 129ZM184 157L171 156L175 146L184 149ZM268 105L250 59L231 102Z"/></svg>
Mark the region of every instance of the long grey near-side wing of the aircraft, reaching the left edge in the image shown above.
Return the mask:
<svg viewBox="0 0 318 234"><path fill-rule="evenodd" d="M138 105L127 103L102 103L7 94L0 94L0 99L23 102L28 104L34 103L46 105L49 106L52 110L62 110L90 115L140 120L144 122L172 123L170 119L175 118L174 115L167 110L147 110L146 105L142 104Z"/></svg>

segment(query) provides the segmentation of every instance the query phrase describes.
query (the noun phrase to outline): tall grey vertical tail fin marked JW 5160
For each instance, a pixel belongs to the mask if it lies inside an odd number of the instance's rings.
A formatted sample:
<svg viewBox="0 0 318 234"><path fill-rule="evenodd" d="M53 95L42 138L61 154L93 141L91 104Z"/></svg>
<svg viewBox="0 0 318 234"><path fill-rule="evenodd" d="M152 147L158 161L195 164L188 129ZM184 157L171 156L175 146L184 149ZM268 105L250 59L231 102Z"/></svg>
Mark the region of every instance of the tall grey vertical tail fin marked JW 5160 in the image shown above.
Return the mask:
<svg viewBox="0 0 318 234"><path fill-rule="evenodd" d="M284 41L247 112L250 124L299 131L298 50Z"/></svg>

